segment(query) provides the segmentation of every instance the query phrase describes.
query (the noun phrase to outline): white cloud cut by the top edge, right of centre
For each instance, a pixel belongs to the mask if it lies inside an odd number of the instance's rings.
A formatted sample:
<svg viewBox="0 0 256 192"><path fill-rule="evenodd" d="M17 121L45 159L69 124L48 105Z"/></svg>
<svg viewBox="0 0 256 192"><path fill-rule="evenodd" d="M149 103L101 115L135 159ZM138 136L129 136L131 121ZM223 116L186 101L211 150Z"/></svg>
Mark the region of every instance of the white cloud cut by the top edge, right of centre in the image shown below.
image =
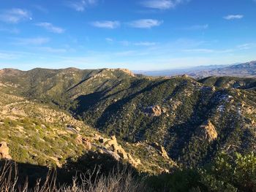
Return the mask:
<svg viewBox="0 0 256 192"><path fill-rule="evenodd" d="M143 7L151 9L171 9L175 8L178 4L188 2L189 0L149 0L141 1Z"/></svg>

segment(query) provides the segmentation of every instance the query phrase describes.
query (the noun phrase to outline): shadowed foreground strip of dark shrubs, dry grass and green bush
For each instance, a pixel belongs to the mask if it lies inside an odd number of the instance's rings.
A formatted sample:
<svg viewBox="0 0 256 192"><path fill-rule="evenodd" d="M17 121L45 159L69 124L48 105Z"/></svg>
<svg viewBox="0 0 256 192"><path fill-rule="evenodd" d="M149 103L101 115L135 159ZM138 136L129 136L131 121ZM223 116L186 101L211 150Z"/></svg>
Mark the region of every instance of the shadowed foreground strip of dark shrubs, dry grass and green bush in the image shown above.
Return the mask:
<svg viewBox="0 0 256 192"><path fill-rule="evenodd" d="M102 162L104 164L104 162ZM82 165L79 167L81 168ZM84 165L83 169L86 168ZM119 168L118 168L119 167ZM120 168L121 167L121 168ZM56 172L30 185L19 183L17 169L4 164L0 171L0 191L256 191L256 155L220 154L212 164L197 169L177 169L171 174L141 175L125 166L113 164L112 171L95 167L76 172L70 184L59 183ZM13 175L12 175L13 174ZM71 177L69 178L71 179ZM31 187L33 186L33 187Z"/></svg>

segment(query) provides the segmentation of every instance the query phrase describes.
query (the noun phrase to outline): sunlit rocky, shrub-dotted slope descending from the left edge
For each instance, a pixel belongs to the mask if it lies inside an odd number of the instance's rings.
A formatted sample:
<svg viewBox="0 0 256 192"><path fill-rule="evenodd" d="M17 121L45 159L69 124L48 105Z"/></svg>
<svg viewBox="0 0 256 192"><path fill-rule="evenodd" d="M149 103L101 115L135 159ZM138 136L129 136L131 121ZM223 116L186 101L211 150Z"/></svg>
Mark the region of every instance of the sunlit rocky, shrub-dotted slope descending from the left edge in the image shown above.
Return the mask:
<svg viewBox="0 0 256 192"><path fill-rule="evenodd" d="M1 86L12 88L8 84ZM67 112L1 89L0 159L61 167L67 158L79 158L90 152L127 162L141 172L163 172L176 166L170 159L162 158L156 148L145 150L147 158L144 158L131 144L119 143L115 136L99 133ZM151 164L148 159L152 158L162 164Z"/></svg>

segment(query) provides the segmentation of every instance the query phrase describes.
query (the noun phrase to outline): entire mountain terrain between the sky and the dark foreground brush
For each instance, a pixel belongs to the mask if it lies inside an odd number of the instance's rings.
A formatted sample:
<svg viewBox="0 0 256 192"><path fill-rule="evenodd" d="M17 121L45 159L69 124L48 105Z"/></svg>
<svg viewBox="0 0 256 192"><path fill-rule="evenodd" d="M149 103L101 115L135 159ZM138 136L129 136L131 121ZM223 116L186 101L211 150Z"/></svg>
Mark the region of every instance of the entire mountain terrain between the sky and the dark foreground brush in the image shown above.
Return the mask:
<svg viewBox="0 0 256 192"><path fill-rule="evenodd" d="M61 166L93 151L151 173L204 165L222 152L249 153L256 147L255 65L214 69L218 75L203 79L1 69L0 142L19 162ZM239 71L252 77L217 77Z"/></svg>

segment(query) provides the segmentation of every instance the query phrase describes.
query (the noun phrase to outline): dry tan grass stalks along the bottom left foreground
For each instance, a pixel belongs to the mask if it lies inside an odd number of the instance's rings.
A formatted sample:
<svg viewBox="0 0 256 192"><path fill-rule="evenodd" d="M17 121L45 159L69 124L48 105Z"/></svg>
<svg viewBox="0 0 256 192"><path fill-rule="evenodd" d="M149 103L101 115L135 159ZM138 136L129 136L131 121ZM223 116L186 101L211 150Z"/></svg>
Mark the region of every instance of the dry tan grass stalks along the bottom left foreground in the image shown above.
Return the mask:
<svg viewBox="0 0 256 192"><path fill-rule="evenodd" d="M99 169L74 177L72 185L56 183L56 172L49 172L46 180L29 188L29 182L18 183L17 166L6 163L0 167L0 192L143 192L146 185L126 169L113 169L108 175L100 175Z"/></svg>

